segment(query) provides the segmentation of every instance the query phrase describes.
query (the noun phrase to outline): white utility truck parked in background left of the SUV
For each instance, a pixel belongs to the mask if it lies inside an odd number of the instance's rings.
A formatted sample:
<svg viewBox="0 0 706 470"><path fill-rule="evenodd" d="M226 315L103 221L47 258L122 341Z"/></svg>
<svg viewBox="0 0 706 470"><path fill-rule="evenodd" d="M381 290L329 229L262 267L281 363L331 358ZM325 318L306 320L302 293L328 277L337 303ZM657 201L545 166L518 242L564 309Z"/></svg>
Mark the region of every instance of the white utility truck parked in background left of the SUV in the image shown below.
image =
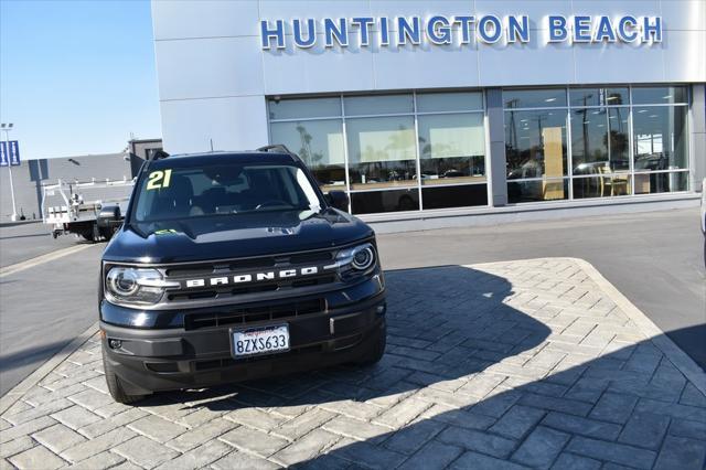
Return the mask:
<svg viewBox="0 0 706 470"><path fill-rule="evenodd" d="M89 242L110 239L116 224L105 220L121 220L127 209L135 180L92 180L67 182L42 189L42 220L52 235L73 233Z"/></svg>

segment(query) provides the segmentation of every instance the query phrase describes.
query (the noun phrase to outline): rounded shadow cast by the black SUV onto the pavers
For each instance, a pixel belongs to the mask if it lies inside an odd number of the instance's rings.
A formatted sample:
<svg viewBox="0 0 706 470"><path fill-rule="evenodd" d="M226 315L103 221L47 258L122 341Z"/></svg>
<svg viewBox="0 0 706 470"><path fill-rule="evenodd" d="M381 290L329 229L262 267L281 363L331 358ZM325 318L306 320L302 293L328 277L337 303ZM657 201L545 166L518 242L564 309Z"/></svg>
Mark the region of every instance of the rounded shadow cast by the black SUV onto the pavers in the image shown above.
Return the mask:
<svg viewBox="0 0 706 470"><path fill-rule="evenodd" d="M461 266L386 273L387 350L375 365L157 394L141 407L184 404L213 410L329 402L387 404L435 383L466 380L536 348L542 322L511 307L507 279Z"/></svg>

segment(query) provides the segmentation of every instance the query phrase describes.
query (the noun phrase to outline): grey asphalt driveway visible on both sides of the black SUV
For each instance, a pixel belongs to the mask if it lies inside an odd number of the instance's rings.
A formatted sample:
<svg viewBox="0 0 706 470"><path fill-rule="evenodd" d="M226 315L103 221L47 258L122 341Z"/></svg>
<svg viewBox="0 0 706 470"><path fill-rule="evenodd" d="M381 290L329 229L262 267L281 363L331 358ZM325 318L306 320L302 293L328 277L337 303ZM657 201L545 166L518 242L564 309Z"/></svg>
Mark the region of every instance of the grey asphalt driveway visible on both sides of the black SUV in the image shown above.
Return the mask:
<svg viewBox="0 0 706 470"><path fill-rule="evenodd" d="M697 214L683 210L410 232L381 235L378 245L388 271L538 256L587 259L706 367L706 278ZM12 259L18 263L77 243L73 236L44 237L43 231L42 224L0 228L2 266L8 266L9 248L17 247ZM0 395L97 320L104 247L96 244L0 278Z"/></svg>

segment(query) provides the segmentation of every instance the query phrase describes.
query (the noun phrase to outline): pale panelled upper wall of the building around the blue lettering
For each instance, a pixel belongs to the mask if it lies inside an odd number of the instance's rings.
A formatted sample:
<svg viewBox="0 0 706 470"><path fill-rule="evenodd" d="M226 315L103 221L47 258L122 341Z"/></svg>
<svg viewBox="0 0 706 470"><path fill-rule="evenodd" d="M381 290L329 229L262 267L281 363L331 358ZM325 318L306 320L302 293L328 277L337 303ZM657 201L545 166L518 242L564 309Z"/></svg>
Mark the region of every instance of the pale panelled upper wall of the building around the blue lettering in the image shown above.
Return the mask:
<svg viewBox="0 0 706 470"><path fill-rule="evenodd" d="M259 20L527 14L520 45L263 51ZM547 14L661 15L659 44L545 44ZM267 143L265 96L435 87L706 82L704 0L153 1L164 148Z"/></svg>

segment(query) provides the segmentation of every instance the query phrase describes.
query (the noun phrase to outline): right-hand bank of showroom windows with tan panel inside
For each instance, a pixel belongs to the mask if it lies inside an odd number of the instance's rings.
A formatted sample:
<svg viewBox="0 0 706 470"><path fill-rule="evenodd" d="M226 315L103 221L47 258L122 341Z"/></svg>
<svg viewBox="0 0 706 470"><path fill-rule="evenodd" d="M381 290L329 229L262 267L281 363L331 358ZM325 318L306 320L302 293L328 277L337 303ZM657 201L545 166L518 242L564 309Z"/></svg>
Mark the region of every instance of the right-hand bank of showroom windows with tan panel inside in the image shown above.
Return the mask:
<svg viewBox="0 0 706 470"><path fill-rule="evenodd" d="M503 90L510 202L566 199L558 184L547 197L546 181L567 174L570 186L564 191L570 188L573 199L685 191L687 92L686 86L576 87L569 88L569 105L561 104L564 109L537 110L523 108L543 107L543 102L552 99L549 90ZM559 146L555 146L556 164L549 171L548 140L543 135L552 126L549 113L568 113L570 173L566 172L564 137L564 158L558 158Z"/></svg>

